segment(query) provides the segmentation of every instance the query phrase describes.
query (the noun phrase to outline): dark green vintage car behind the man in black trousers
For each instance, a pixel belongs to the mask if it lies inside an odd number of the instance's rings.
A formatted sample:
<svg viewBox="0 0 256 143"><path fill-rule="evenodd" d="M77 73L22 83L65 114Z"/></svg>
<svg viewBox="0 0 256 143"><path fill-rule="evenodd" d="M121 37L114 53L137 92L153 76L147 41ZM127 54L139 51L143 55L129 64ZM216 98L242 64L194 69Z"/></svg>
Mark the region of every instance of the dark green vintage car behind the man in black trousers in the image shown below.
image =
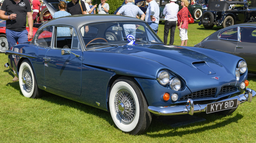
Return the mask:
<svg viewBox="0 0 256 143"><path fill-rule="evenodd" d="M160 21L164 21L163 8L169 2L170 2L169 0L160 0ZM179 10L181 10L181 8L182 8L181 1L177 0L175 3L179 5ZM207 7L204 7L202 5L197 5L197 4L191 5L190 3L187 8L188 8L189 12L191 13L191 15L193 16L194 20L199 20L199 18L203 14L203 11L207 10Z"/></svg>

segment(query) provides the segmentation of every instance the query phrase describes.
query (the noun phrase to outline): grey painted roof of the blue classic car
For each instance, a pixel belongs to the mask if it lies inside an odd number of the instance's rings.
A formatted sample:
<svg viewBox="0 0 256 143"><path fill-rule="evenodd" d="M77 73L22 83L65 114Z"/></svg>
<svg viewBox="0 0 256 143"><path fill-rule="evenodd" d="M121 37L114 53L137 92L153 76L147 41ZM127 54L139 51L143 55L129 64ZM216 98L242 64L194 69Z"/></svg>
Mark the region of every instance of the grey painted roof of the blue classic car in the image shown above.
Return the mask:
<svg viewBox="0 0 256 143"><path fill-rule="evenodd" d="M82 24L86 23L94 23L94 22L111 22L111 21L140 21L144 22L138 18L128 17L128 16L121 16L121 15L114 15L114 14L85 14L85 15L71 15L56 18L50 20L44 24L42 24L38 31L45 26L49 25L71 25L75 28L78 28Z"/></svg>

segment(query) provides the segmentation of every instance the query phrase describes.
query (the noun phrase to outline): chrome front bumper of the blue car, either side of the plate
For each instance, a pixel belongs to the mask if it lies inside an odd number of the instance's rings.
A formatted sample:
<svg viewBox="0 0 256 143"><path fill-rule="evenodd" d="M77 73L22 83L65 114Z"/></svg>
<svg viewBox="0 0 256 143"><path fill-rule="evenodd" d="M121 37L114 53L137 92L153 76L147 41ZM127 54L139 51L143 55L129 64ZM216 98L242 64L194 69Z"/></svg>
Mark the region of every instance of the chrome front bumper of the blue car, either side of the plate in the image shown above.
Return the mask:
<svg viewBox="0 0 256 143"><path fill-rule="evenodd" d="M237 99L237 105L248 101L249 103L254 98L256 92L250 88L245 90L244 94L237 95L232 98L224 99L218 102ZM189 114L193 115L194 113L200 113L206 111L207 104L195 104L192 99L188 99L186 105L177 105L177 106L167 106L167 107L155 107L148 106L148 110L156 115L181 115Z"/></svg>

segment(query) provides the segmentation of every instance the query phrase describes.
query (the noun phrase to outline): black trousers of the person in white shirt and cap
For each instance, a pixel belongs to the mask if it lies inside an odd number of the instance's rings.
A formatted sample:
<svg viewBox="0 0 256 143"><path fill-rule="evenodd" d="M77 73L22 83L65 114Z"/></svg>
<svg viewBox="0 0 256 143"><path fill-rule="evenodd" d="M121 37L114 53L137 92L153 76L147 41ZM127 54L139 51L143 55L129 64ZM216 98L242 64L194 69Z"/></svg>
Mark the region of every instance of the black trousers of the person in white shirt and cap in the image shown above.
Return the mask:
<svg viewBox="0 0 256 143"><path fill-rule="evenodd" d="M167 45L167 38L169 34L169 30L171 29L170 32L170 42L169 45L172 45L174 42L174 33L175 33L175 28L176 28L176 21L165 21L164 24L164 33L163 33L163 43L164 45Z"/></svg>

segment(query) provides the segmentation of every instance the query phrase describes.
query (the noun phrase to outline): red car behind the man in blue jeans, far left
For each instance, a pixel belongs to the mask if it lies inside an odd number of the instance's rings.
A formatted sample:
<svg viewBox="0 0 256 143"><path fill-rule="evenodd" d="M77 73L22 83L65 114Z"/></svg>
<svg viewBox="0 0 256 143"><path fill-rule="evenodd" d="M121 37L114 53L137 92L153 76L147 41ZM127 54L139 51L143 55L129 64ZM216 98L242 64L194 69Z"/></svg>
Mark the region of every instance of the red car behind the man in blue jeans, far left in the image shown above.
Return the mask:
<svg viewBox="0 0 256 143"><path fill-rule="evenodd" d="M5 34L5 26L6 26L6 21L1 20L0 21L0 52L4 53L6 50L8 50L8 42L6 39L6 34ZM26 27L26 29L29 31L29 27ZM37 31L38 28L33 27L33 36L35 35L35 32ZM29 41L31 41L30 39Z"/></svg>

